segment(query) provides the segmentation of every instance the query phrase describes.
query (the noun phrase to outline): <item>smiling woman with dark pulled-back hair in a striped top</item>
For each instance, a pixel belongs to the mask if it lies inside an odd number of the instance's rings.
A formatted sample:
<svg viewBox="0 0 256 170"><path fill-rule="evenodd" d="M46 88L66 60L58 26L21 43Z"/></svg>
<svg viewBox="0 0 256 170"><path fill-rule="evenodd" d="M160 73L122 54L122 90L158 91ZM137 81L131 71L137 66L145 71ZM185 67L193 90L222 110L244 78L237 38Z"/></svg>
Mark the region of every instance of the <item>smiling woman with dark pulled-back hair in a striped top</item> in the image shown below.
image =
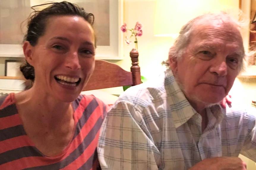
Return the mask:
<svg viewBox="0 0 256 170"><path fill-rule="evenodd" d="M80 95L95 65L93 22L66 1L30 17L20 69L34 83L0 98L0 169L96 169L106 106Z"/></svg>

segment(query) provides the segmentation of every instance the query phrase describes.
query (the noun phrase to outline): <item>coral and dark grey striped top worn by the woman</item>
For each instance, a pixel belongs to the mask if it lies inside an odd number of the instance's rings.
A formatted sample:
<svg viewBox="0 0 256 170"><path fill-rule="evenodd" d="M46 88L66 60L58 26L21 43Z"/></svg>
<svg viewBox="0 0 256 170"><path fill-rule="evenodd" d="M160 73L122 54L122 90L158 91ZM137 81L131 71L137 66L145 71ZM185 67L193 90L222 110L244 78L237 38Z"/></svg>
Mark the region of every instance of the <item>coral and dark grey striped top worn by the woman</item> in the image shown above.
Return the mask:
<svg viewBox="0 0 256 170"><path fill-rule="evenodd" d="M96 169L96 147L106 106L93 95L79 95L72 107L75 121L72 141L62 153L45 156L23 129L14 93L0 97L0 169Z"/></svg>

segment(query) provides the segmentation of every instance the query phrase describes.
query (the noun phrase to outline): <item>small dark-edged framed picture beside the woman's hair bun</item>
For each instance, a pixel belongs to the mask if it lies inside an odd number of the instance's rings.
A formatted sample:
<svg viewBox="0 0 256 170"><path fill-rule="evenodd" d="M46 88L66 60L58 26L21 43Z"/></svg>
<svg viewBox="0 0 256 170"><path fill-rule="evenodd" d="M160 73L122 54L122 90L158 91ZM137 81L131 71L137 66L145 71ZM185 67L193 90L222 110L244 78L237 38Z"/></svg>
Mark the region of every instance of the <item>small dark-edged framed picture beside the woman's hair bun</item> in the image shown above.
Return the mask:
<svg viewBox="0 0 256 170"><path fill-rule="evenodd" d="M4 76L9 77L20 77L22 73L20 72L21 60L5 60Z"/></svg>

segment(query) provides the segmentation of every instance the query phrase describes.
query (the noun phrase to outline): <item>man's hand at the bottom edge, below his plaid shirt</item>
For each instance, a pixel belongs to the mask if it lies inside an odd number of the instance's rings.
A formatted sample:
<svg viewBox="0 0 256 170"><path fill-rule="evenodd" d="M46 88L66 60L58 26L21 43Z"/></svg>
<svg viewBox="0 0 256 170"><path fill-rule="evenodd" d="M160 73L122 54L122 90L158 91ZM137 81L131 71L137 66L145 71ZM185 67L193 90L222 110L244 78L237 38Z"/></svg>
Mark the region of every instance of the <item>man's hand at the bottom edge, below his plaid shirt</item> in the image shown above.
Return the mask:
<svg viewBox="0 0 256 170"><path fill-rule="evenodd" d="M246 163L238 157L215 157L204 159L189 170L246 170Z"/></svg>

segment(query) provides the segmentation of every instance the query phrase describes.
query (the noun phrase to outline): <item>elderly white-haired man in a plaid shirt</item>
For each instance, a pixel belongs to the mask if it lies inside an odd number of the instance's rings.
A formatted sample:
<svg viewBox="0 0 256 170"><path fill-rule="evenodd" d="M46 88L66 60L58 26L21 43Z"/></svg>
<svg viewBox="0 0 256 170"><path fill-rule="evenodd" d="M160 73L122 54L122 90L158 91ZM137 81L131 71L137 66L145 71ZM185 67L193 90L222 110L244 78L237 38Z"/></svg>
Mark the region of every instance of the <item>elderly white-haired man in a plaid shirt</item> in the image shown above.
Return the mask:
<svg viewBox="0 0 256 170"><path fill-rule="evenodd" d="M255 108L218 104L245 57L228 14L189 21L170 48L170 68L154 82L129 88L102 125L102 169L246 169L256 161Z"/></svg>

